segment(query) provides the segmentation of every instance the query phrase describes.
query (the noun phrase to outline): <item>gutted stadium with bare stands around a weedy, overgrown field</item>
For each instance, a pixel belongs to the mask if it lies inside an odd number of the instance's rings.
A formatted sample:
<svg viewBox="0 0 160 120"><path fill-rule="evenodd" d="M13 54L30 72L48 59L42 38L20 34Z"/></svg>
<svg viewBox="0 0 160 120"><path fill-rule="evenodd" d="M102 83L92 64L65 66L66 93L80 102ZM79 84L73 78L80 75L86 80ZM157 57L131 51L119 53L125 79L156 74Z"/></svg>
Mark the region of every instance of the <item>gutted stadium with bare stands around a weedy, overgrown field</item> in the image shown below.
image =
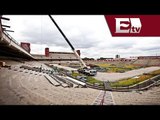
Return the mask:
<svg viewBox="0 0 160 120"><path fill-rule="evenodd" d="M160 104L160 56L84 60L56 23L73 52L31 54L32 43L19 44L2 19L9 20L0 16L0 105ZM136 82L120 86L124 79Z"/></svg>

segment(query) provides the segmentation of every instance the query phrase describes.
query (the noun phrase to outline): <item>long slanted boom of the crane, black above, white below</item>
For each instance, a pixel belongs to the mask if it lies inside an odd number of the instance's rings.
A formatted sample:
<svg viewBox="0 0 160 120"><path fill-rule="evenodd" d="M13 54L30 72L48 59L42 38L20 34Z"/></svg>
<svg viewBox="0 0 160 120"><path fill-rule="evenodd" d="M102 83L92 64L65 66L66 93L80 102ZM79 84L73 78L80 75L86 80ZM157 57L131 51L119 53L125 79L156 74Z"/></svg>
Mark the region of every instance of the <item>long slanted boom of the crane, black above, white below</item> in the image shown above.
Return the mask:
<svg viewBox="0 0 160 120"><path fill-rule="evenodd" d="M55 20L52 18L51 15L49 15L50 19L52 20L52 22L55 24L55 26L57 27L57 29L59 30L59 32L62 34L62 36L64 37L64 39L67 41L67 43L69 44L69 46L71 47L72 51L75 53L75 55L78 57L80 63L82 64L83 67L86 67L86 64L83 62L83 60L81 59L81 57L78 55L78 53L76 52L75 48L73 47L73 45L70 43L70 41L68 40L68 38L65 36L65 34L62 32L62 30L59 28L58 24L55 22Z"/></svg>

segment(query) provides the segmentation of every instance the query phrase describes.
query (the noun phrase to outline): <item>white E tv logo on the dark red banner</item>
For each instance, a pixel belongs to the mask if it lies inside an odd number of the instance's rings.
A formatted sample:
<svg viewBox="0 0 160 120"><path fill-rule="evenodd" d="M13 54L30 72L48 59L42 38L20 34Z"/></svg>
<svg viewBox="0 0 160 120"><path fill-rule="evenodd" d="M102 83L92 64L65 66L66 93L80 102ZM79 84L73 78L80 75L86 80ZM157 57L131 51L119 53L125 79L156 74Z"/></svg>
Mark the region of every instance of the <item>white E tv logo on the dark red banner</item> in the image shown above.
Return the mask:
<svg viewBox="0 0 160 120"><path fill-rule="evenodd" d="M140 33L141 21L139 18L115 18L115 33Z"/></svg>

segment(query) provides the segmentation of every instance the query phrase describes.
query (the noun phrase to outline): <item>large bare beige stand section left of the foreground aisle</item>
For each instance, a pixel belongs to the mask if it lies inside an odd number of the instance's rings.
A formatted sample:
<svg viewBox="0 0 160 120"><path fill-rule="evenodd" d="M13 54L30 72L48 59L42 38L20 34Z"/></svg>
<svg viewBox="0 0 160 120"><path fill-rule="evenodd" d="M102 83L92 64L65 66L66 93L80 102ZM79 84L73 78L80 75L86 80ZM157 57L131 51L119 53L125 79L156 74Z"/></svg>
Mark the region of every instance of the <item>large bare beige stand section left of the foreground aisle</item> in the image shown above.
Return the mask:
<svg viewBox="0 0 160 120"><path fill-rule="evenodd" d="M25 63L28 64L35 62ZM11 69L0 69L1 105L90 105L99 93L91 88L56 87L43 75L40 76L42 73L19 68L21 65L23 64L12 65Z"/></svg>

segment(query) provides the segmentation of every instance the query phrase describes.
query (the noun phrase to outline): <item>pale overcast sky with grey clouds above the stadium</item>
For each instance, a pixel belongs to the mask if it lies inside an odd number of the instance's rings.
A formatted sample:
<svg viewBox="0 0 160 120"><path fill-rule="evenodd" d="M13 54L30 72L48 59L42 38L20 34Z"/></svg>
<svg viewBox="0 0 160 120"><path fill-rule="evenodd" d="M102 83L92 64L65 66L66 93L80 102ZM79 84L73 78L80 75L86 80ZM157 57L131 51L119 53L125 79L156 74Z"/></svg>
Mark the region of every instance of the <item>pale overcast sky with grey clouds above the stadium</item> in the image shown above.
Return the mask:
<svg viewBox="0 0 160 120"><path fill-rule="evenodd" d="M47 15L4 15L17 42L31 43L31 53L68 51L71 48ZM112 37L103 15L52 15L81 57L160 55L160 37Z"/></svg>

